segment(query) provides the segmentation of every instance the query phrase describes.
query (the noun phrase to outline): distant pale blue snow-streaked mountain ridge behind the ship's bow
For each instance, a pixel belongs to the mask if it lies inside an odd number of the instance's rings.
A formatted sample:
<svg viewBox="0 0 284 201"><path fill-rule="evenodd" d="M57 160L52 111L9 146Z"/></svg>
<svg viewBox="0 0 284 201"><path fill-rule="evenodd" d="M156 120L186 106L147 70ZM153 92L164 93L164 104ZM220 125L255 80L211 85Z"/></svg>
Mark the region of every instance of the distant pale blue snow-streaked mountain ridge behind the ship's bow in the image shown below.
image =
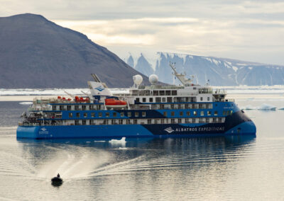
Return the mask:
<svg viewBox="0 0 284 201"><path fill-rule="evenodd" d="M194 76L195 83L212 86L261 86L283 85L284 67L272 64L244 62L236 59L217 57L202 57L190 54L169 54L158 52L155 55L155 74L159 80L168 84L173 83L170 62L175 62L178 72L185 72L187 77ZM135 62L135 61L134 61ZM143 62L145 63L145 62ZM137 64L139 69L148 69L148 65ZM175 80L178 83L177 80Z"/></svg>

